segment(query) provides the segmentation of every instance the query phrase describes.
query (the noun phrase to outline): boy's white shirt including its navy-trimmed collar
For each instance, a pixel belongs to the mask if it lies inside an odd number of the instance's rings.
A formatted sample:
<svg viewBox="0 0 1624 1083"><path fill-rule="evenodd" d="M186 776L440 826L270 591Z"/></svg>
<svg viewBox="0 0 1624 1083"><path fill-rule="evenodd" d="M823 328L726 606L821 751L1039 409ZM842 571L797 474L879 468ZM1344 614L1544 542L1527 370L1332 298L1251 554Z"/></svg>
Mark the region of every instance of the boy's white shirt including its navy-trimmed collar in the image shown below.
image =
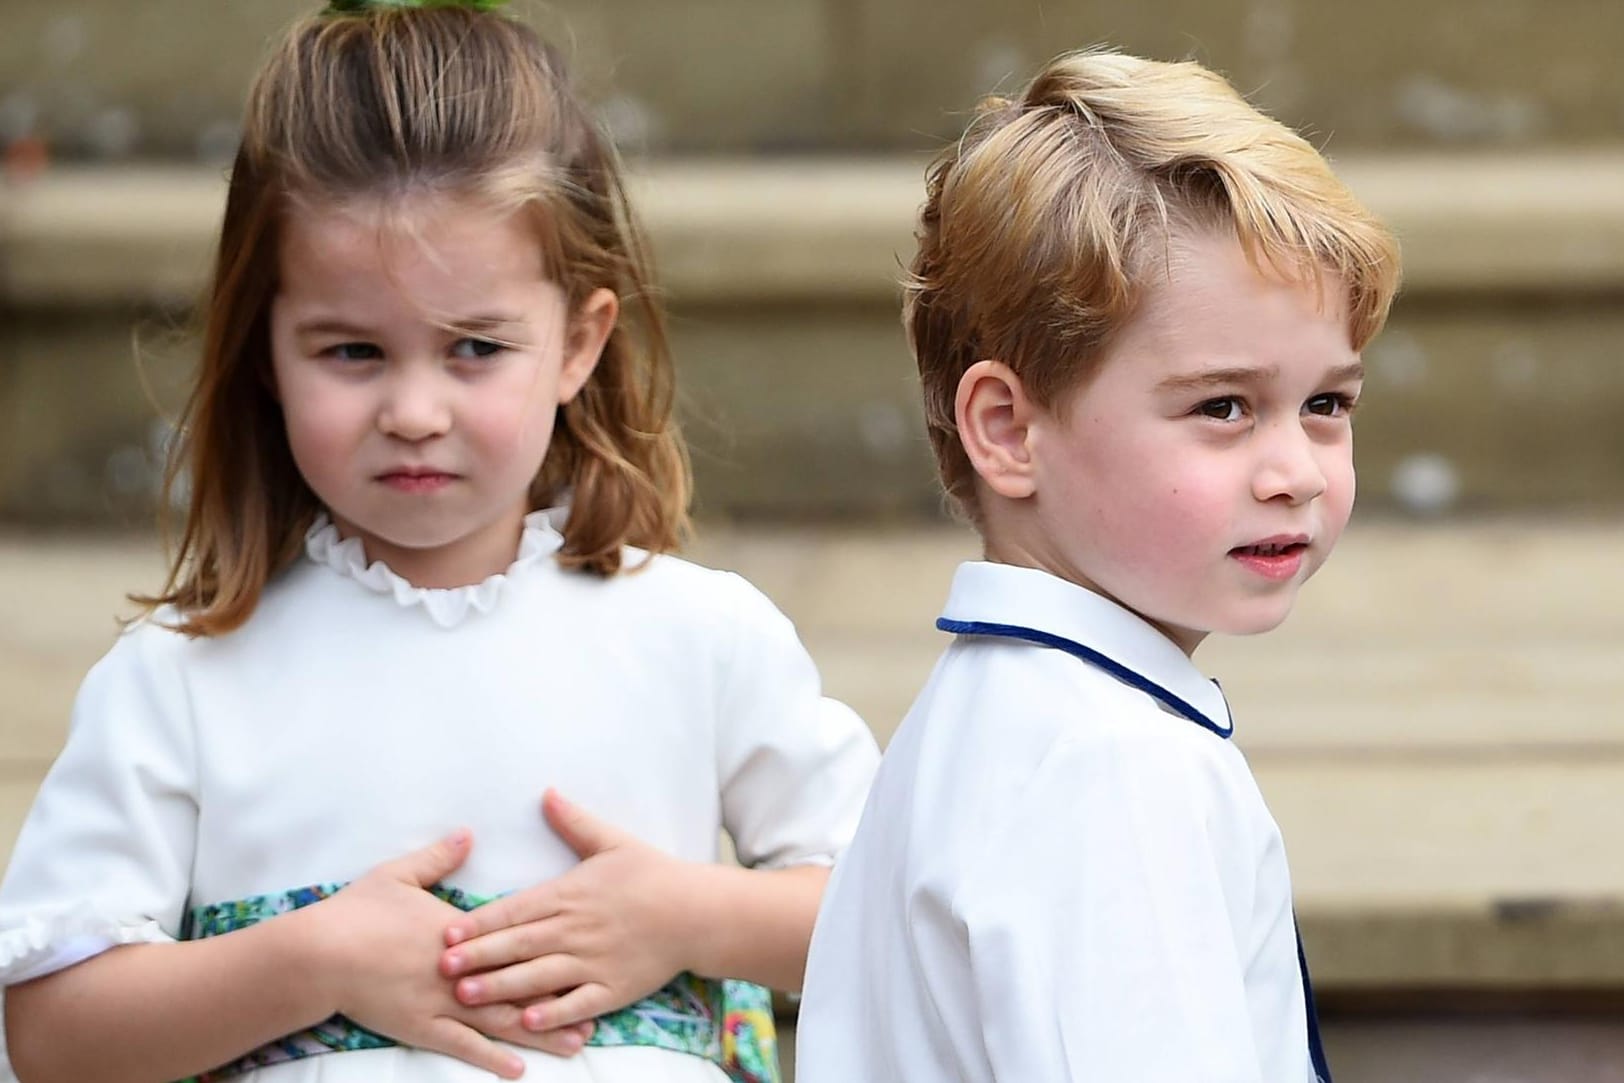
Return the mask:
<svg viewBox="0 0 1624 1083"><path fill-rule="evenodd" d="M1218 687L1031 568L960 567L942 625L1004 635L960 635L885 753L812 935L797 1083L1312 1081L1280 830Z"/></svg>

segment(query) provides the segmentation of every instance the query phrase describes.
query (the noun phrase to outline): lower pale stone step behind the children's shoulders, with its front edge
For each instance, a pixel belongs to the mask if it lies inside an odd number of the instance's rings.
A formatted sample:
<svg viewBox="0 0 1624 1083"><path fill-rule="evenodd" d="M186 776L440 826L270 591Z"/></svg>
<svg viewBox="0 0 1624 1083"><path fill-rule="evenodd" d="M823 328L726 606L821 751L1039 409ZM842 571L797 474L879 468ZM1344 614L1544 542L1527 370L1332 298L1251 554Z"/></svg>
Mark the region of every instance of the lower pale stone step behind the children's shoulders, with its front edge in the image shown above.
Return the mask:
<svg viewBox="0 0 1624 1083"><path fill-rule="evenodd" d="M1624 609L1600 589L1621 541L1624 520L1359 523L1283 630L1202 648L1330 994L1624 994ZM953 528L706 523L693 547L778 601L882 740L974 554ZM0 536L0 859L159 570L145 539Z"/></svg>

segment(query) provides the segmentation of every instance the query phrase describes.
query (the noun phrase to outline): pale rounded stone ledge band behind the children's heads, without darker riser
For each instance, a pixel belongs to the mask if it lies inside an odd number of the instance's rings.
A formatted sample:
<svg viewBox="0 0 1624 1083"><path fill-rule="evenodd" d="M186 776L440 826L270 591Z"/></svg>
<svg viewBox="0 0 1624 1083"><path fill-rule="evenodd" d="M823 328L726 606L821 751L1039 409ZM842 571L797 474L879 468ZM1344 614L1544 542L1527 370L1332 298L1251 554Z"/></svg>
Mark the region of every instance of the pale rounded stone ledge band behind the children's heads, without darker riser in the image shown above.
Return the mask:
<svg viewBox="0 0 1624 1083"><path fill-rule="evenodd" d="M1406 289L1624 289L1624 151L1393 154L1338 169L1405 245ZM676 304L879 300L913 248L922 159L659 161L633 175ZM224 187L195 167L0 185L0 304L192 302Z"/></svg>

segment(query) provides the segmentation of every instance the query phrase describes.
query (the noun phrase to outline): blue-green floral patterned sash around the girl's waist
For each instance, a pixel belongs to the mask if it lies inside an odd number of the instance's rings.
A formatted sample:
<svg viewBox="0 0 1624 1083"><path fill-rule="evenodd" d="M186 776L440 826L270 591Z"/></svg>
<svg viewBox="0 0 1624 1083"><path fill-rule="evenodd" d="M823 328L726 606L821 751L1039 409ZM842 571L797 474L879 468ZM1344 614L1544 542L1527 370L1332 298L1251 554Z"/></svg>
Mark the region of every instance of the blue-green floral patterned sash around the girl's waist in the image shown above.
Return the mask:
<svg viewBox="0 0 1624 1083"><path fill-rule="evenodd" d="M281 895L258 895L232 903L193 908L182 924L182 940L201 940L247 929L278 914L320 903L341 883L318 883ZM435 885L435 896L469 911L489 903L458 888ZM778 1083L778 1036L771 994L744 981L713 981L679 974L664 989L596 1020L588 1046L651 1046L711 1060L736 1083ZM260 1046L245 1057L185 1083L216 1083L283 1060L352 1049L387 1049L396 1042L343 1015Z"/></svg>

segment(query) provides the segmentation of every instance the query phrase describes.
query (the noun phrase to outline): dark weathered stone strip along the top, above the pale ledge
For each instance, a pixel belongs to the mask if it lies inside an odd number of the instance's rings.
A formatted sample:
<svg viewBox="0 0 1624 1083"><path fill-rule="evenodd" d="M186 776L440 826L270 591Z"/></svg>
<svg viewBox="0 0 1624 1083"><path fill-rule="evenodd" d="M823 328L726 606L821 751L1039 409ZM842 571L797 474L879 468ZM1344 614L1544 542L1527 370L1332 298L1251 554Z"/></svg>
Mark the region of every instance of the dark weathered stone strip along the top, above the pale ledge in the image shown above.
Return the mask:
<svg viewBox="0 0 1624 1083"><path fill-rule="evenodd" d="M6 0L0 145L216 161L265 42L310 0ZM895 151L1095 42L1195 57L1337 151L1613 141L1609 0L559 0L515 5L630 149Z"/></svg>

